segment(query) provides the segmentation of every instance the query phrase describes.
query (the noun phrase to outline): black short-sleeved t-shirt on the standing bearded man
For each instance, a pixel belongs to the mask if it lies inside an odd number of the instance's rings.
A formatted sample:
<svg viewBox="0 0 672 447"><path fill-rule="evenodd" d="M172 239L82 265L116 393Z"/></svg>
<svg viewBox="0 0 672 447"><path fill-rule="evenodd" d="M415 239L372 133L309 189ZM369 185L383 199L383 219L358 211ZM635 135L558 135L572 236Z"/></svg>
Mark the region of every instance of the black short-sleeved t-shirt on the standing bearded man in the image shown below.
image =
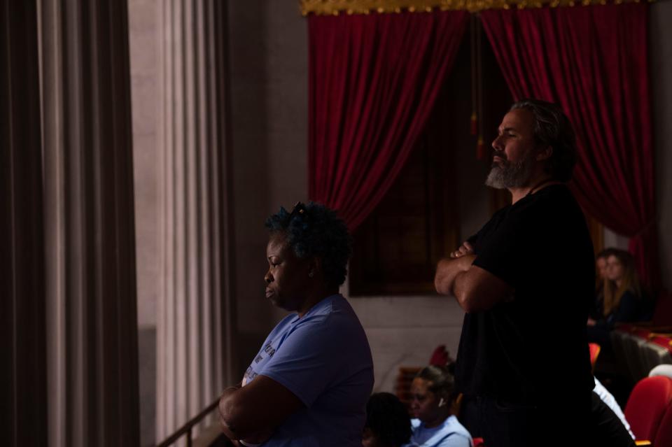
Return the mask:
<svg viewBox="0 0 672 447"><path fill-rule="evenodd" d="M510 301L467 313L456 364L465 395L554 402L594 385L586 320L593 247L566 185L550 185L493 215L470 238L478 266L514 288Z"/></svg>

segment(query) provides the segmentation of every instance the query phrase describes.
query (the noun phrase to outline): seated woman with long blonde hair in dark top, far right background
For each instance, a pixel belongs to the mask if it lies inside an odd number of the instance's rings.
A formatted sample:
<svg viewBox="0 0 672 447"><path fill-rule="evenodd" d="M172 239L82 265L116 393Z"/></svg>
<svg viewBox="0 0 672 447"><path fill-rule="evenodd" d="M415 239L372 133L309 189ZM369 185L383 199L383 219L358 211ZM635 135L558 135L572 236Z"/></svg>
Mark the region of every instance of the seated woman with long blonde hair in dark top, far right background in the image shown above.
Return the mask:
<svg viewBox="0 0 672 447"><path fill-rule="evenodd" d="M611 346L609 333L617 322L638 321L644 311L643 293L630 253L611 249L605 276L601 318L588 320L588 341L603 348Z"/></svg>

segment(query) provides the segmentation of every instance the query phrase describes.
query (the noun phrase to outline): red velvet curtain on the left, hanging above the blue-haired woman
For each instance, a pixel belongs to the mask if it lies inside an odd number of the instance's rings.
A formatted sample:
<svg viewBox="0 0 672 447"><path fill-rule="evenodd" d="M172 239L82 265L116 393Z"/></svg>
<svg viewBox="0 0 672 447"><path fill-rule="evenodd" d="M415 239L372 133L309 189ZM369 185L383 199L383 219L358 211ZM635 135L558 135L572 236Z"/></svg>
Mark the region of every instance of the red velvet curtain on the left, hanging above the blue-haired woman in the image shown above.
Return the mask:
<svg viewBox="0 0 672 447"><path fill-rule="evenodd" d="M355 229L433 108L465 11L309 17L309 197Z"/></svg>

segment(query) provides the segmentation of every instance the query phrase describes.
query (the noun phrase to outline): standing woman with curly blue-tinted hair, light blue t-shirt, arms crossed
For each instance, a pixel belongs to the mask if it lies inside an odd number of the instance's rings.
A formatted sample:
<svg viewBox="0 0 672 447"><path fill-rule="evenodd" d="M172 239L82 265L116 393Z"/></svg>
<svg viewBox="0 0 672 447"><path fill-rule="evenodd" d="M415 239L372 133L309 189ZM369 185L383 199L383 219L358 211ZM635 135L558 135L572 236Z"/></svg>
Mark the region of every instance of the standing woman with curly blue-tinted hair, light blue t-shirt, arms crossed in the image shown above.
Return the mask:
<svg viewBox="0 0 672 447"><path fill-rule="evenodd" d="M281 208L266 226L266 298L292 313L267 336L241 385L224 391L222 430L246 446L359 447L373 362L357 315L338 293L348 230L313 203Z"/></svg>

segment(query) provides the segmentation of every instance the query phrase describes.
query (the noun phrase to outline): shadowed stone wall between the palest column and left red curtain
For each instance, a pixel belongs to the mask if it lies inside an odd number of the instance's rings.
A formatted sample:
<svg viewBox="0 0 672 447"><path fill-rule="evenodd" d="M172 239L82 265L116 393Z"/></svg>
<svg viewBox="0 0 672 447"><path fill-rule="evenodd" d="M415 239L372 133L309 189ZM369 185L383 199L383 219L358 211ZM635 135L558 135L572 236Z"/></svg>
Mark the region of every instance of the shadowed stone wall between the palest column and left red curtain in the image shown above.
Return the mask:
<svg viewBox="0 0 672 447"><path fill-rule="evenodd" d="M307 24L292 1L229 3L237 365L281 318L264 295L265 218L307 199Z"/></svg>

